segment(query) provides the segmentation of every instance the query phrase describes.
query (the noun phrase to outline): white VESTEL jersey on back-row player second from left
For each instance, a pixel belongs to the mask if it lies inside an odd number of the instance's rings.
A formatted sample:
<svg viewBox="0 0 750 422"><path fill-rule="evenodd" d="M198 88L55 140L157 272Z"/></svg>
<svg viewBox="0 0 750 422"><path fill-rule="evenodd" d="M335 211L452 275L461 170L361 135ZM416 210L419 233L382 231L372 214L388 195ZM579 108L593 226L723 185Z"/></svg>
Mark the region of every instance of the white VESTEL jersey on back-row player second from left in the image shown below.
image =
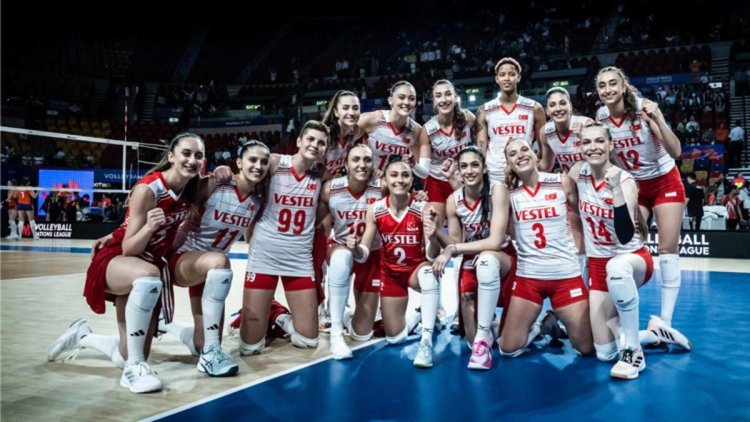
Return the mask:
<svg viewBox="0 0 750 422"><path fill-rule="evenodd" d="M390 121L387 111L381 111L382 117L378 120L375 128L367 134L367 145L372 149L372 159L378 170L385 169L388 156L404 155L411 151L414 139L414 120L409 118L406 126L398 130Z"/></svg>

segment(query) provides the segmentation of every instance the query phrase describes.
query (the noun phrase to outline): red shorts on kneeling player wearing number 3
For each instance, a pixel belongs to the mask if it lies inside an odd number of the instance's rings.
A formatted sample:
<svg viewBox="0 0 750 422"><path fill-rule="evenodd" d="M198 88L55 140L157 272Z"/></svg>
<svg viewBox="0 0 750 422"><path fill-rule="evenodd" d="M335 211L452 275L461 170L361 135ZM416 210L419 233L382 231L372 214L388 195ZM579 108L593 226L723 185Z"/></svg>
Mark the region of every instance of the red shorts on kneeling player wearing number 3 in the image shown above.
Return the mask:
<svg viewBox="0 0 750 422"><path fill-rule="evenodd" d="M552 309L563 308L589 298L589 291L580 275L561 280L538 280L516 275L512 290L513 296L530 300L540 306L545 298L550 298Z"/></svg>

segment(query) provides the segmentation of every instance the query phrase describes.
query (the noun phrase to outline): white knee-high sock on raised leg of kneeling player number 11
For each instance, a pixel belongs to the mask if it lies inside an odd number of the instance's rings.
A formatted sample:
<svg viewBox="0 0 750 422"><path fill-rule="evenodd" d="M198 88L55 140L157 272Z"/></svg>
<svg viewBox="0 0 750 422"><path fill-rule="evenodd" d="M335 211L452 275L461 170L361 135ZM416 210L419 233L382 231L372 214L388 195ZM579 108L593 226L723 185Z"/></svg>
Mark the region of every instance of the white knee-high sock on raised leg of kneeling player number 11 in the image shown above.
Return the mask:
<svg viewBox="0 0 750 422"><path fill-rule="evenodd" d="M206 275L203 286L201 308L203 309L203 350L219 344L221 333L221 317L224 314L224 300L229 295L232 286L232 270L213 269Z"/></svg>

